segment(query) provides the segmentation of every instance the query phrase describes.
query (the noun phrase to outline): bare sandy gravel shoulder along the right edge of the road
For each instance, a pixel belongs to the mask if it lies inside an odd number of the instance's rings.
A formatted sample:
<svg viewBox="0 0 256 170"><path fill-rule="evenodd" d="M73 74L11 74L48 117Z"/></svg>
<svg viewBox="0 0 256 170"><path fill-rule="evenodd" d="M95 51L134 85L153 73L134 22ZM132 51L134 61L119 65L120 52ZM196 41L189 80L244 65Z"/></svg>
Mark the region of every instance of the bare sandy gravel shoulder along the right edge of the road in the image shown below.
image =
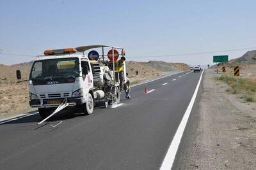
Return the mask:
<svg viewBox="0 0 256 170"><path fill-rule="evenodd" d="M177 169L256 169L256 103L227 94L206 70Z"/></svg>

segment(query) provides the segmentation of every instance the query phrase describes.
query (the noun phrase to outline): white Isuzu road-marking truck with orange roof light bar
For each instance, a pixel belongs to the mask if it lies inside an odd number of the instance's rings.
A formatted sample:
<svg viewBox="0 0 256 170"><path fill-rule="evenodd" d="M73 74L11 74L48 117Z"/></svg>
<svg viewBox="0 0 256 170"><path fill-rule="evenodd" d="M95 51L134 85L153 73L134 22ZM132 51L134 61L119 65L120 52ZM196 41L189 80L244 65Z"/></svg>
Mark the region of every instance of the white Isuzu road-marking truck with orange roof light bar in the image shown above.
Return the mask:
<svg viewBox="0 0 256 170"><path fill-rule="evenodd" d="M95 50L86 55L92 48L100 49L101 55ZM124 74L125 81L126 70L124 63L124 71L115 71L115 62L124 55L124 48L107 45L45 50L31 67L29 105L47 118L60 106L78 107L90 115L95 106L119 103L119 74Z"/></svg>

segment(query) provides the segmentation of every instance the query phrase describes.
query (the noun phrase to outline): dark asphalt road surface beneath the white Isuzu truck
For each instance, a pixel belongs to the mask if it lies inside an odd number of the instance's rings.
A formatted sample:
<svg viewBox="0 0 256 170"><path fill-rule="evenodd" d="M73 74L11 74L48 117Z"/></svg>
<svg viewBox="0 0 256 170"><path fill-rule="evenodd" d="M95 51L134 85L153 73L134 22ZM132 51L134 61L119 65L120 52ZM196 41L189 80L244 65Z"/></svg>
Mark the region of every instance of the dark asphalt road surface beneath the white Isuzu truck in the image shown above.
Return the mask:
<svg viewBox="0 0 256 170"><path fill-rule="evenodd" d="M43 125L38 114L0 124L0 167L159 169L199 79L179 73L132 87L132 99L90 116L62 111Z"/></svg>

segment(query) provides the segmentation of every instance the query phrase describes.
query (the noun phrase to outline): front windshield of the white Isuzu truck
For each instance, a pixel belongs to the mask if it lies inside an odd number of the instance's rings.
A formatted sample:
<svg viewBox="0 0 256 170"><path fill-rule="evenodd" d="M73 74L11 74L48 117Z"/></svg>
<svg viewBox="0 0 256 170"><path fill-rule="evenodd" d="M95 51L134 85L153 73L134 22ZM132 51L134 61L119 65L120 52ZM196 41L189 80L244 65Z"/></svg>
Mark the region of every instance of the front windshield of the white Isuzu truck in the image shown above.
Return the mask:
<svg viewBox="0 0 256 170"><path fill-rule="evenodd" d="M34 62L30 80L44 78L76 78L79 76L79 62L77 58L49 59Z"/></svg>

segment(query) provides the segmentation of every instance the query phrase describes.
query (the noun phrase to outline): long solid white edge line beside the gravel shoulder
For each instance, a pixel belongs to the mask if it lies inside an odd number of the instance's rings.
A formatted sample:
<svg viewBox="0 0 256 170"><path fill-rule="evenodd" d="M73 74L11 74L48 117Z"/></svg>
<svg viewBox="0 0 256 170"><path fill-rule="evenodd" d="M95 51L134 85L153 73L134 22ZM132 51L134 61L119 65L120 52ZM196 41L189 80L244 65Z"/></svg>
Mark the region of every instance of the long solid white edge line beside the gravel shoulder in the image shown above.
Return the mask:
<svg viewBox="0 0 256 170"><path fill-rule="evenodd" d="M184 132L184 129L187 125L187 122L188 122L188 118L189 118L189 115L191 113L191 110L193 108L193 104L195 103L195 99L196 99L196 94L198 92L198 89L199 89L199 86L200 86L200 82L202 80L202 75L203 75L204 71L202 71L202 74L200 76L200 79L197 83L197 86L196 86L196 89L195 89L195 92L191 98L191 101L188 105L188 108L180 122L180 125L175 133L175 136L172 140L172 143L170 145L170 147L168 148L168 152L166 153L165 157L164 157L164 160L163 160L163 163L161 165L161 168L160 170L165 170L165 169L172 169L172 165L173 165L173 162L174 162L174 159L175 159L175 155L177 153L177 150L179 148L179 144L180 144L180 140L182 138L182 135L183 135L183 132Z"/></svg>

